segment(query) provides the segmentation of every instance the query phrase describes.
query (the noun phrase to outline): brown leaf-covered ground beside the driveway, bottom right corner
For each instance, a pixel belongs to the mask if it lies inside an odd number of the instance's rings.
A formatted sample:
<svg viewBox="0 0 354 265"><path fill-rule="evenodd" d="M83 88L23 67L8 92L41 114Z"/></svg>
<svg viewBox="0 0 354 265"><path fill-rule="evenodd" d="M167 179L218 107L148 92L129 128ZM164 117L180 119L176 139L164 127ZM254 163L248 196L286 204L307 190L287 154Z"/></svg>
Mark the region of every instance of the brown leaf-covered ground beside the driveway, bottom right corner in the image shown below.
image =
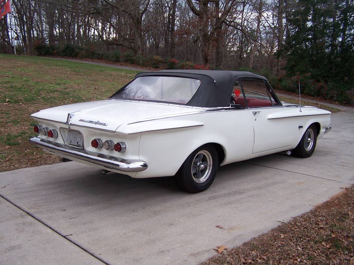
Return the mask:
<svg viewBox="0 0 354 265"><path fill-rule="evenodd" d="M268 233L218 253L201 265L354 264L354 187Z"/></svg>

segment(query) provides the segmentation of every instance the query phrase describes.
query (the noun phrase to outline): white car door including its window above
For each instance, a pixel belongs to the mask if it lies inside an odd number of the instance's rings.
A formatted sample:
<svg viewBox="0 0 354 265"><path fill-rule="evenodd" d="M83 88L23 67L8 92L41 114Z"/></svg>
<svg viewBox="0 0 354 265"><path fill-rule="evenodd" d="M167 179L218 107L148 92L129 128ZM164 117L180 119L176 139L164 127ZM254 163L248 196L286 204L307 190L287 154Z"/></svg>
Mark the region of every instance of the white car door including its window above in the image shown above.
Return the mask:
<svg viewBox="0 0 354 265"><path fill-rule="evenodd" d="M294 139L293 121L268 119L284 110L273 90L263 80L240 80L253 123L254 143L252 153L291 146Z"/></svg>

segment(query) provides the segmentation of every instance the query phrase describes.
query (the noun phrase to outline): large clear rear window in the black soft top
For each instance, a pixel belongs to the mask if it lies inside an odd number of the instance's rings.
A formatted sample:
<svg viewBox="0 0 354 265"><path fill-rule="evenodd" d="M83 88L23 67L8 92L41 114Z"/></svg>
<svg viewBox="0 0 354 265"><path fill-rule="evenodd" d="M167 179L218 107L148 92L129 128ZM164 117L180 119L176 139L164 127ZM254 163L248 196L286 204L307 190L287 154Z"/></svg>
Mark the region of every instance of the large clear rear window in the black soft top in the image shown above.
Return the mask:
<svg viewBox="0 0 354 265"><path fill-rule="evenodd" d="M200 80L187 77L142 76L120 89L112 99L167 101L187 104Z"/></svg>

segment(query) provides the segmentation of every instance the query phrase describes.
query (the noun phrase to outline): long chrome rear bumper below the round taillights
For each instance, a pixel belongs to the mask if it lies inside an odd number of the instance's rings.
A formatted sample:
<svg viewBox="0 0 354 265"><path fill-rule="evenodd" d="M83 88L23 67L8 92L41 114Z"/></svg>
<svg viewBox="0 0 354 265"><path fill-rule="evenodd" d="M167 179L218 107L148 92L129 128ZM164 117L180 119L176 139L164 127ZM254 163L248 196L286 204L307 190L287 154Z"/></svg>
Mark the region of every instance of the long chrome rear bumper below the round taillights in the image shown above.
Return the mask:
<svg viewBox="0 0 354 265"><path fill-rule="evenodd" d="M123 172L139 172L147 169L148 165L144 161L128 161L96 152L85 151L84 149L74 148L60 143L32 137L30 142L42 148L44 151L53 153L73 160L84 160L95 165L103 166L107 169L114 169Z"/></svg>

